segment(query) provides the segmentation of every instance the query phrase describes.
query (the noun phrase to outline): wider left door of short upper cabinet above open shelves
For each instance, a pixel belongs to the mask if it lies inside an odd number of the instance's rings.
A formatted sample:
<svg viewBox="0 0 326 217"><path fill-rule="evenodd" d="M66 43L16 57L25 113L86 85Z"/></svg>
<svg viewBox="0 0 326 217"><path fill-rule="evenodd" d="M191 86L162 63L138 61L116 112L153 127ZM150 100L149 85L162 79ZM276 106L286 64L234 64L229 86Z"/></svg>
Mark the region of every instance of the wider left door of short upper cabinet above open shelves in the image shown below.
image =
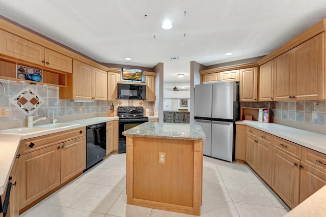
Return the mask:
<svg viewBox="0 0 326 217"><path fill-rule="evenodd" d="M44 47L0 29L0 53L44 65Z"/></svg>

